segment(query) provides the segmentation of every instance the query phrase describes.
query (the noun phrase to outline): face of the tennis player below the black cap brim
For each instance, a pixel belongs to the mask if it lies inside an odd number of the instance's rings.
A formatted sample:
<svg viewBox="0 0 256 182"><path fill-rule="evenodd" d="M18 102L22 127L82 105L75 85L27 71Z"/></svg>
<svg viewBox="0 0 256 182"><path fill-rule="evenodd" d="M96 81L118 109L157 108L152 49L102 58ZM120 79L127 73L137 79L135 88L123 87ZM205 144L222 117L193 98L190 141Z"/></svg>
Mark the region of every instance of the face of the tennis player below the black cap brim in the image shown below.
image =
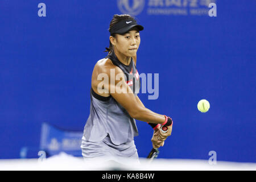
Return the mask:
<svg viewBox="0 0 256 182"><path fill-rule="evenodd" d="M131 30L124 35L117 34L115 36L115 48L127 57L136 56L141 43L139 31Z"/></svg>

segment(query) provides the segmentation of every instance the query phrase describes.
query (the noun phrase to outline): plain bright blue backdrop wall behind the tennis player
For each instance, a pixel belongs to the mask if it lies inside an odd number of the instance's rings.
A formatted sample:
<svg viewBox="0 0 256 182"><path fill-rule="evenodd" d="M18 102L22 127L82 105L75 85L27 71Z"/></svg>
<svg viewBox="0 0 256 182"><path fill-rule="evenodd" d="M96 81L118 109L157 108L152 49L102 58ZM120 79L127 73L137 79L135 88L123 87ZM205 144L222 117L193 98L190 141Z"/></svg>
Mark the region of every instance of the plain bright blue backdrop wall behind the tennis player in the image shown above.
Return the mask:
<svg viewBox="0 0 256 182"><path fill-rule="evenodd" d="M40 2L46 17L38 16ZM214 150L217 160L256 162L256 1L216 1L217 17L150 15L144 2L137 68L159 73L159 98L139 97L174 119L159 158L209 159ZM0 1L0 158L39 147L42 122L83 130L113 14L122 14L117 1ZM207 113L197 110L203 98ZM152 130L137 126L135 144L146 157Z"/></svg>

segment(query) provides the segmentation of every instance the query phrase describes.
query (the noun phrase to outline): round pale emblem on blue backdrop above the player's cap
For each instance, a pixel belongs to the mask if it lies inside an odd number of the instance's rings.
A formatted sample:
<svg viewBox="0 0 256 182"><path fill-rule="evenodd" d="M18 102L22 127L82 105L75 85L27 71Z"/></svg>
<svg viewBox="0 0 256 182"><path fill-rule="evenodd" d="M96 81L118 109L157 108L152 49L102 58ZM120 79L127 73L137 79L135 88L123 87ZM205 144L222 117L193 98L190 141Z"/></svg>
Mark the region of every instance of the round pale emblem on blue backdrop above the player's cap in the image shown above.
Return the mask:
<svg viewBox="0 0 256 182"><path fill-rule="evenodd" d="M119 10L123 14L138 15L144 9L144 0L117 0Z"/></svg>

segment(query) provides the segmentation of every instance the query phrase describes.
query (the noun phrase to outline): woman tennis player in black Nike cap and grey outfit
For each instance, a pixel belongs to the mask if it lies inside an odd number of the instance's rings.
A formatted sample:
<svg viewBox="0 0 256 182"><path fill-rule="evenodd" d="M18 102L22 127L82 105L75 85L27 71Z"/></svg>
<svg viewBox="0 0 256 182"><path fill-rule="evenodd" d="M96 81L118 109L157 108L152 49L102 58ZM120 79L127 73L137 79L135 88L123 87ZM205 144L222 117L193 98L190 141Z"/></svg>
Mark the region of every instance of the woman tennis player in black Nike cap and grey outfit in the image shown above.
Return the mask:
<svg viewBox="0 0 256 182"><path fill-rule="evenodd" d="M97 61L92 73L90 115L81 144L84 159L138 160L135 119L153 127L154 148L163 146L171 135L172 119L147 109L137 96L141 83L136 61L142 30L130 15L114 15L110 22L108 55ZM168 127L167 133L160 131L161 125Z"/></svg>

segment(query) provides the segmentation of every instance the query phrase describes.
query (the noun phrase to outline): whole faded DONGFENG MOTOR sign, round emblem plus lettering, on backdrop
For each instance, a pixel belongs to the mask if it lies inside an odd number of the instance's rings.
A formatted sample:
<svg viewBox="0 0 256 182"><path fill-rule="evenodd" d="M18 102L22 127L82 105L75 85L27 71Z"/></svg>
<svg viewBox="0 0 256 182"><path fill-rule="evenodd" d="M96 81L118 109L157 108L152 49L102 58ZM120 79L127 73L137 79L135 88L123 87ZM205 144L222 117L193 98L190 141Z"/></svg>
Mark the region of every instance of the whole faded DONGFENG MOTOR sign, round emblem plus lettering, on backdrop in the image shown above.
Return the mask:
<svg viewBox="0 0 256 182"><path fill-rule="evenodd" d="M121 13L138 15L146 4L147 15L216 16L209 12L210 3L217 0L117 0ZM216 4L215 4L216 5Z"/></svg>

